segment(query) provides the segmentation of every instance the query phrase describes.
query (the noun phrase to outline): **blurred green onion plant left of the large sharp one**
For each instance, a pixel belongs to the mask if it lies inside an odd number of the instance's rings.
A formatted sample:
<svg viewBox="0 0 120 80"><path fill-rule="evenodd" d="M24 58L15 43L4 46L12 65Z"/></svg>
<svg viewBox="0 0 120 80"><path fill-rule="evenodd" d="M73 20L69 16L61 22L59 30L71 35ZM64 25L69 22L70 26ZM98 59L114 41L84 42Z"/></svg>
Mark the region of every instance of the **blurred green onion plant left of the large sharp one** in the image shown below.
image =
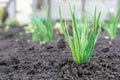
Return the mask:
<svg viewBox="0 0 120 80"><path fill-rule="evenodd" d="M35 31L33 32L32 40L33 41L43 40L43 42L50 42L52 40L52 25L49 19L49 9L47 9L46 12L45 24L43 24L40 21L40 18L38 17L35 11L33 11L33 20Z"/></svg>

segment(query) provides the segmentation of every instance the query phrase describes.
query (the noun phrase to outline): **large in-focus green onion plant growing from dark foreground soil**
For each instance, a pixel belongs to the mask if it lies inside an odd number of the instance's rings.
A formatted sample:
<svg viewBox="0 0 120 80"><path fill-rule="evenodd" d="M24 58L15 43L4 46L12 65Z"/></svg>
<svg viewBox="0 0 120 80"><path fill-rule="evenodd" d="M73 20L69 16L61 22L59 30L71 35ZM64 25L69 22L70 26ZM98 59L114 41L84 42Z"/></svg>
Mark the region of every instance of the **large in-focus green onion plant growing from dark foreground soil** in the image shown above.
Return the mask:
<svg viewBox="0 0 120 80"><path fill-rule="evenodd" d="M97 31L101 13L99 13L99 15L97 16L95 9L94 25L92 27L92 30L89 31L89 26L86 24L86 22L83 25L77 25L75 12L72 11L71 7L70 7L70 12L72 16L73 39L71 39L68 30L64 29L64 24L62 22L61 8L59 7L60 23L62 26L65 39L71 49L73 60L75 63L80 64L82 62L89 62L95 44L97 42L97 39L101 32L100 27Z"/></svg>

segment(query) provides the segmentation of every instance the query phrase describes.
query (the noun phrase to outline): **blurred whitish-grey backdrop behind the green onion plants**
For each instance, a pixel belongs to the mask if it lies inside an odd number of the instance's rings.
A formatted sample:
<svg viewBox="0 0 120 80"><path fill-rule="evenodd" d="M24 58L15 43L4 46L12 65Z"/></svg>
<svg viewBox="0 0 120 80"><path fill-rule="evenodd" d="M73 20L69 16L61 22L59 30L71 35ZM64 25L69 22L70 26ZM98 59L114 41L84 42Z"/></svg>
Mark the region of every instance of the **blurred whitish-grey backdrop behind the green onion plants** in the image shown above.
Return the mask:
<svg viewBox="0 0 120 80"><path fill-rule="evenodd" d="M102 12L101 19L108 20L109 14L115 15L120 0L0 0L0 9L4 11L4 19L17 20L20 24L31 22L32 8L44 19L46 9L49 7L49 18L59 20L58 6L61 6L64 20L71 20L69 3L74 6L76 16L89 13L93 16L95 7ZM5 21L5 20L3 20Z"/></svg>

